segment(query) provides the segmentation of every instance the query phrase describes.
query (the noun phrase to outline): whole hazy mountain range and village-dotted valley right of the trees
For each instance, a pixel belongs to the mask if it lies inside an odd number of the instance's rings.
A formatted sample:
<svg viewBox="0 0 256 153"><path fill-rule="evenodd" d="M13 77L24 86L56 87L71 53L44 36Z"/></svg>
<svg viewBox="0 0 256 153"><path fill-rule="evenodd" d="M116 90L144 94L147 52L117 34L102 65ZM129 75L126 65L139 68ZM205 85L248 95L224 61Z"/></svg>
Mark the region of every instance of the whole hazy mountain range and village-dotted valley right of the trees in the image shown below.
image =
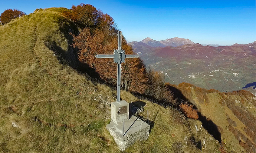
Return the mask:
<svg viewBox="0 0 256 153"><path fill-rule="evenodd" d="M129 44L147 68L160 71L171 84L187 82L227 92L255 82L255 41L214 47L175 37Z"/></svg>

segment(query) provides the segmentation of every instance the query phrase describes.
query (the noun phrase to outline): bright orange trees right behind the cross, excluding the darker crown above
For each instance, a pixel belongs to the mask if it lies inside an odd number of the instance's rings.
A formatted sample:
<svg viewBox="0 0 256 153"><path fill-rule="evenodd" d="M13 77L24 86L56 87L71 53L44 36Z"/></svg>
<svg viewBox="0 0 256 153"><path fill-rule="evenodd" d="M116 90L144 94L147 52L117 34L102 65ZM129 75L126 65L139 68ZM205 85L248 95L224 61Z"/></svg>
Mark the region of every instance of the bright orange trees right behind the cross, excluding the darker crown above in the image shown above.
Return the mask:
<svg viewBox="0 0 256 153"><path fill-rule="evenodd" d="M116 84L117 68L113 59L96 59L96 54L113 54L117 49L117 32L113 35L102 30L85 28L78 36L74 36L73 46L79 49L79 60L94 68L101 79ZM134 54L132 48L122 39L122 49L126 54ZM121 87L130 92L144 93L147 88L145 65L140 58L126 59L121 64Z"/></svg>

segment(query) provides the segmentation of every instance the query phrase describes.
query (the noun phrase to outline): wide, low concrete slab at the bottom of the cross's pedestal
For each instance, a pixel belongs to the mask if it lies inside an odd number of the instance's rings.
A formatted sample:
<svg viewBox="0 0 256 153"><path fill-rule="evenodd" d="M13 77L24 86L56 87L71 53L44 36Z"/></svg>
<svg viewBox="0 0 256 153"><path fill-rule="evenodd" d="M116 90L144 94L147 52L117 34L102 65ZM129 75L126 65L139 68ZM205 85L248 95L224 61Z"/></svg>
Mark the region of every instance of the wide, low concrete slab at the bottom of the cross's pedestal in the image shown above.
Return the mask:
<svg viewBox="0 0 256 153"><path fill-rule="evenodd" d="M124 135L123 135L124 125ZM114 137L116 144L124 151L127 147L134 144L137 140L143 141L148 139L150 125L143 122L136 116L132 116L125 122L110 122L106 126L109 133Z"/></svg>

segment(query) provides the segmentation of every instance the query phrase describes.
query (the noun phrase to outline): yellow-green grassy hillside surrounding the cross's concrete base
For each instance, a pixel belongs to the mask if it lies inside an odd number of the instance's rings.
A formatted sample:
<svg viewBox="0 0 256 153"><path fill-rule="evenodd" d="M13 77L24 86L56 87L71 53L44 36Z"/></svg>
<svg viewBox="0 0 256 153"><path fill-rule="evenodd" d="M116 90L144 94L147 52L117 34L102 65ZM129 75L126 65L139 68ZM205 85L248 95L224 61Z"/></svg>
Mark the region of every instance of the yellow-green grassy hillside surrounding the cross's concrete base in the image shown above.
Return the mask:
<svg viewBox="0 0 256 153"><path fill-rule="evenodd" d="M120 152L106 130L115 90L69 66L76 55L68 33L76 27L63 9L36 10L0 27L0 152ZM125 91L121 97L145 103L138 115L149 111L152 127L148 140L125 152L219 152L204 128L196 132L200 121Z"/></svg>

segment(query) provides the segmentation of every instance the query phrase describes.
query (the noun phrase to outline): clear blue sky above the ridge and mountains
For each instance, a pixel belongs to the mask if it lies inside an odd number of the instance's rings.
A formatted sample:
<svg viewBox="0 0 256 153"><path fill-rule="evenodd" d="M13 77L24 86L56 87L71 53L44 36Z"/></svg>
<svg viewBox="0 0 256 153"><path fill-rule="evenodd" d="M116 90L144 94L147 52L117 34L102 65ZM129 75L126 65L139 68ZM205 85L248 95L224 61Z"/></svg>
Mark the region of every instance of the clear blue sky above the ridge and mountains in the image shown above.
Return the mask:
<svg viewBox="0 0 256 153"><path fill-rule="evenodd" d="M0 13L6 9L26 14L37 8L70 9L80 3L92 4L113 17L128 41L181 37L200 44L232 45L256 39L255 0L0 0Z"/></svg>

